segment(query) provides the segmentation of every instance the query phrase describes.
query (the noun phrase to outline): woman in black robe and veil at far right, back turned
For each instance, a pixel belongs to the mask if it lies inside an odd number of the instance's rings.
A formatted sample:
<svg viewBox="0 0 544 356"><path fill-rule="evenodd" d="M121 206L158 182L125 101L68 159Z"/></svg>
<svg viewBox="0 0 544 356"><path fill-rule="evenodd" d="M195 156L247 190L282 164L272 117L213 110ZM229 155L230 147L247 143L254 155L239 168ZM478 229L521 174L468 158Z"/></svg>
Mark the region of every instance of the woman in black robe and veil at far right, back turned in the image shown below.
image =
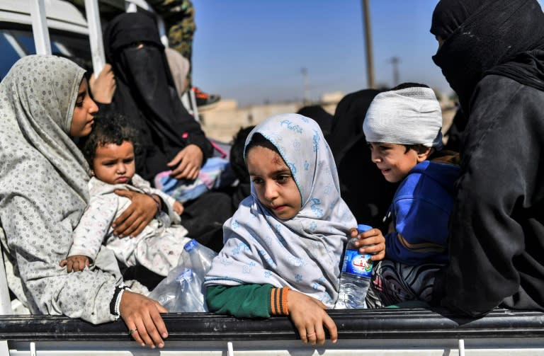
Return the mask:
<svg viewBox="0 0 544 356"><path fill-rule="evenodd" d="M431 33L467 120L434 300L470 316L544 311L544 13L536 0L441 0Z"/></svg>

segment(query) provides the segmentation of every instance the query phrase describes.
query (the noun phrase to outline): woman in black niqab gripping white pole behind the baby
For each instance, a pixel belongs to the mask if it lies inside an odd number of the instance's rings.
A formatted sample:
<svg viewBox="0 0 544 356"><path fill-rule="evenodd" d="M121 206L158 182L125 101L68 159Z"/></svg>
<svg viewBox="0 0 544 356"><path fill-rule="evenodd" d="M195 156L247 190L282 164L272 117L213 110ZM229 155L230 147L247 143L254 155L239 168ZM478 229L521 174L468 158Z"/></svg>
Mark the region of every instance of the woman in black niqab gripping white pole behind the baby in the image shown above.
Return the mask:
<svg viewBox="0 0 544 356"><path fill-rule="evenodd" d="M98 104L124 115L140 132L137 173L154 182L158 173L171 170L172 180L191 184L213 147L179 100L156 23L145 13L116 16L104 32L104 47L116 88L111 104ZM184 206L189 236L219 251L222 223L232 214L229 197L208 192Z"/></svg>

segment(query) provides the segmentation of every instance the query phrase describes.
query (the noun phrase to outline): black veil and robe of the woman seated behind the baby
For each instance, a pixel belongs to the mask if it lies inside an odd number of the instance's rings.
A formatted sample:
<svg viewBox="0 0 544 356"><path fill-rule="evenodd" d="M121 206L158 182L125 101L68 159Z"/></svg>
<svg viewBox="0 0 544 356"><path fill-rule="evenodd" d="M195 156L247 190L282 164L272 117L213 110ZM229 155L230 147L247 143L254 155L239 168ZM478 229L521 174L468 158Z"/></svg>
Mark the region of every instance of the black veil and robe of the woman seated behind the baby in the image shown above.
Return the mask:
<svg viewBox="0 0 544 356"><path fill-rule="evenodd" d="M187 144L196 144L207 159L212 145L176 93L153 19L144 13L116 16L105 30L104 47L117 84L113 109L141 133L138 173L152 180Z"/></svg>

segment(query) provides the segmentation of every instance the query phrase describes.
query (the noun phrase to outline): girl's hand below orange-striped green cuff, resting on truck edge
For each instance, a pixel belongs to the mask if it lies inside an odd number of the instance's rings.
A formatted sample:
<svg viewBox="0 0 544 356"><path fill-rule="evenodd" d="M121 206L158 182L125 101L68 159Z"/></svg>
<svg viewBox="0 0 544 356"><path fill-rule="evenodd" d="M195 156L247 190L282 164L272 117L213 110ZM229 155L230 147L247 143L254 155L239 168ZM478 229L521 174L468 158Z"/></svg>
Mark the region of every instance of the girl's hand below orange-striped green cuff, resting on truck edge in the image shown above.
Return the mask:
<svg viewBox="0 0 544 356"><path fill-rule="evenodd" d="M287 294L287 308L303 343L323 345L325 343L323 327L329 330L331 341L336 343L338 340L336 324L325 311L327 306L322 302L290 289Z"/></svg>

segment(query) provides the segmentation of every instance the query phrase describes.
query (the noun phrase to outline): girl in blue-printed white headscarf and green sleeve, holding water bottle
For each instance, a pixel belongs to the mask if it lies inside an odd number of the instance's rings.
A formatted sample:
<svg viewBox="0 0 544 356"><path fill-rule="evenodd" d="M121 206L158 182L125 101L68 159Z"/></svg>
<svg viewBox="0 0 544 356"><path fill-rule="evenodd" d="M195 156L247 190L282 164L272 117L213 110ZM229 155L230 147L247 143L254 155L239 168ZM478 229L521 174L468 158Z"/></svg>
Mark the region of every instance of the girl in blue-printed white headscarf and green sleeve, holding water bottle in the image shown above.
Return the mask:
<svg viewBox="0 0 544 356"><path fill-rule="evenodd" d="M223 226L225 246L206 276L210 311L289 315L303 342L324 343L336 326L324 309L338 298L339 264L355 217L340 197L336 166L314 120L277 115L246 139L251 196ZM382 258L378 229L362 245Z"/></svg>

